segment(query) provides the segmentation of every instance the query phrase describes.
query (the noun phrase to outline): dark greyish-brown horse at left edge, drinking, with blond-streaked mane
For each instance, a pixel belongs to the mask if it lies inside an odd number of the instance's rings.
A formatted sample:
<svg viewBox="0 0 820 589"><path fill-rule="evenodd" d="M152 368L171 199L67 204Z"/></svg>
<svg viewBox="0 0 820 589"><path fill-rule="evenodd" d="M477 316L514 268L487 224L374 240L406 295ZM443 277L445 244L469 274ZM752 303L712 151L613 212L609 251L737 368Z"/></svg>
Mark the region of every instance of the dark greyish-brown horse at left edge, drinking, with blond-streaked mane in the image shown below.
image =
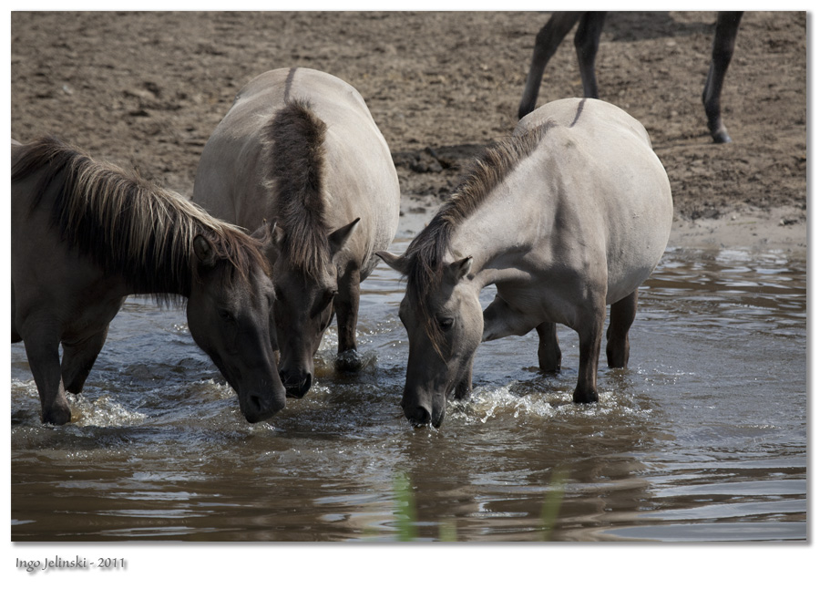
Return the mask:
<svg viewBox="0 0 820 589"><path fill-rule="evenodd" d="M59 140L13 140L12 342L25 343L42 420L71 419L65 391L82 390L128 294L188 299L190 334L248 421L284 407L263 246Z"/></svg>

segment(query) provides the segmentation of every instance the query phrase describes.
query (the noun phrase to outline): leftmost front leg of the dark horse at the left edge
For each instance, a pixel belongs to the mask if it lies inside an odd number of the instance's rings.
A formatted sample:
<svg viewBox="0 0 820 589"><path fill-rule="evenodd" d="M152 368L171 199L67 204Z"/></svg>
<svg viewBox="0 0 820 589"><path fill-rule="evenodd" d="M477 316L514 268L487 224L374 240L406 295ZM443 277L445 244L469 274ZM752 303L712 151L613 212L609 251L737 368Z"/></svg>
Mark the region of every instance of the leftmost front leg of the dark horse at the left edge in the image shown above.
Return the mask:
<svg viewBox="0 0 820 589"><path fill-rule="evenodd" d="M60 340L56 331L48 328L26 330L23 343L26 346L28 366L34 376L40 395L43 423L61 426L71 420L66 392L60 378Z"/></svg>

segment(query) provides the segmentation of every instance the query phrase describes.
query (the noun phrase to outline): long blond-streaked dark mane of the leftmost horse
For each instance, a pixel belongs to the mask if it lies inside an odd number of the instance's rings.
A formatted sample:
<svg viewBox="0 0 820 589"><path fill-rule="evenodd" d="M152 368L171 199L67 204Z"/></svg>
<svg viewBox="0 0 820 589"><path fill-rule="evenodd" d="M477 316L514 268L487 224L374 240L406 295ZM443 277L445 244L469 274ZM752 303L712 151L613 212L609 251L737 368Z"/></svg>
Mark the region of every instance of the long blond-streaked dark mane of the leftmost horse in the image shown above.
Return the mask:
<svg viewBox="0 0 820 589"><path fill-rule="evenodd" d="M54 137L23 147L12 167L12 182L35 172L41 175L30 210L43 205L53 186L51 220L60 238L107 274L123 274L135 292L154 294L160 303L179 302L190 294L198 234L231 264L230 279L247 280L254 265L269 272L261 243L136 172L92 160Z"/></svg>

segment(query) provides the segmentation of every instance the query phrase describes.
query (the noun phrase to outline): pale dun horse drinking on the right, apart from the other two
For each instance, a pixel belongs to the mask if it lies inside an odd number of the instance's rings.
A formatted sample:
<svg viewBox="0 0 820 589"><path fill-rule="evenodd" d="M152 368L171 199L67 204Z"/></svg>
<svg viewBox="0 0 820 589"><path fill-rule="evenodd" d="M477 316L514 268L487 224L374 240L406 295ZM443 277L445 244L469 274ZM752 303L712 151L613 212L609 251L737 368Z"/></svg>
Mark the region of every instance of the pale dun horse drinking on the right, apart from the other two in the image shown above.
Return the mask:
<svg viewBox="0 0 820 589"><path fill-rule="evenodd" d="M641 123L594 99L549 103L476 168L402 256L400 316L410 339L402 407L438 427L469 396L480 342L538 330L538 364L559 370L556 324L579 334L573 400L598 400L606 306L610 367L625 367L638 287L661 259L672 201ZM478 294L496 284L482 313Z"/></svg>

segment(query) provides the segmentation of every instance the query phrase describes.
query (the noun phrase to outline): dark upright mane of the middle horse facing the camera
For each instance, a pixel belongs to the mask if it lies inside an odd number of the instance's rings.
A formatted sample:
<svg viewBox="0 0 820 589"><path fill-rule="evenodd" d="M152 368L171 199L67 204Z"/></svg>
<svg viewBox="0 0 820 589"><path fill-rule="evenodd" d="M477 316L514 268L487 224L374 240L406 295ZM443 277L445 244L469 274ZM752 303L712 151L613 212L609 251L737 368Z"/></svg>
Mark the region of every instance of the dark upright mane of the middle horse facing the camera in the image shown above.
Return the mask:
<svg viewBox="0 0 820 589"><path fill-rule="evenodd" d="M294 99L262 129L267 181L276 191L276 223L282 228L281 255L292 267L317 276L328 260L325 219L324 135L327 126L310 103Z"/></svg>

